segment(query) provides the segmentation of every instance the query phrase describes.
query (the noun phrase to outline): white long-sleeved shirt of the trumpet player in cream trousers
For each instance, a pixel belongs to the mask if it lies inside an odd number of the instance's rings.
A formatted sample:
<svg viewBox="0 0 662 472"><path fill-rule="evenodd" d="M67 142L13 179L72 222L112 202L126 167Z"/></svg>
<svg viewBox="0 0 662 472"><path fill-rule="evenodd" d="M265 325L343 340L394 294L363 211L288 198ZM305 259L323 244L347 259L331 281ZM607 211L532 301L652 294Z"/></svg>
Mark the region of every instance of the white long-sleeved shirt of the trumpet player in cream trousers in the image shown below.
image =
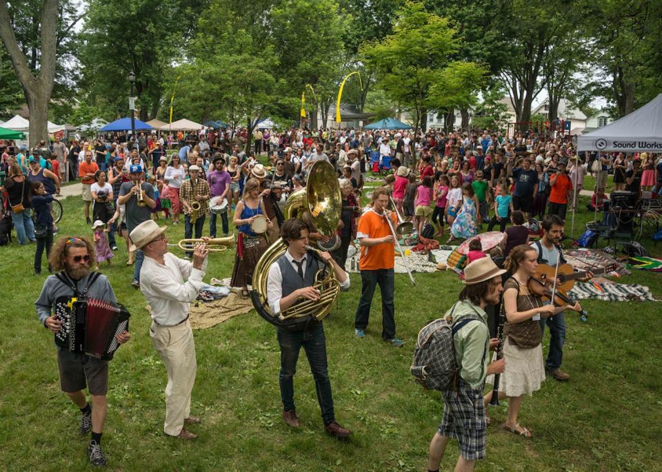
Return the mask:
<svg viewBox="0 0 662 472"><path fill-rule="evenodd" d="M174 326L188 316L190 302L195 300L207 269L194 269L193 263L170 253L163 256L165 265L145 256L140 269L140 290L152 308L152 320L163 326ZM184 279L186 282L184 282Z"/></svg>

